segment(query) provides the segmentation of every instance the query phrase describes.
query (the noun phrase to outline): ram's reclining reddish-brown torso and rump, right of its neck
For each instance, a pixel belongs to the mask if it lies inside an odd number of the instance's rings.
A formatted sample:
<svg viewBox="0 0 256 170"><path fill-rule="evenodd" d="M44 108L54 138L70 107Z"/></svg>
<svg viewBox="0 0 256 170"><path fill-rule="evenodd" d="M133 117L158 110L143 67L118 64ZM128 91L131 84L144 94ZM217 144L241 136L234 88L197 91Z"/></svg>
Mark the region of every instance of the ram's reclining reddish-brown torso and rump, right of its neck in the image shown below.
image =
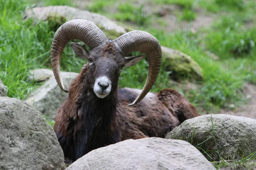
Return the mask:
<svg viewBox="0 0 256 170"><path fill-rule="evenodd" d="M125 89L134 96L139 95L137 89ZM179 120L177 114L182 114L185 119L200 116L184 96L172 89L164 89L158 94L149 93L134 107L128 106L131 100L125 95L118 96L117 115L122 122L122 140L164 137L184 121Z"/></svg>

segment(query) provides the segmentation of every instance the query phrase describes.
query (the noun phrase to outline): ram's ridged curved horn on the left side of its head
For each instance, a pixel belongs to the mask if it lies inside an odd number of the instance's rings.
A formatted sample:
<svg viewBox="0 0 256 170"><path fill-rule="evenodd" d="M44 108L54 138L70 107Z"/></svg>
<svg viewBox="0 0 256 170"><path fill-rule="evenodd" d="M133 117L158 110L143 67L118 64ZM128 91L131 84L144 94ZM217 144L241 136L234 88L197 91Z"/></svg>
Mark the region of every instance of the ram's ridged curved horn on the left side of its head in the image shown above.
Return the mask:
<svg viewBox="0 0 256 170"><path fill-rule="evenodd" d="M93 49L108 40L105 34L88 20L71 20L58 28L52 41L52 70L61 90L66 93L68 93L68 90L64 88L61 79L61 55L67 43L74 39L83 41L90 49Z"/></svg>

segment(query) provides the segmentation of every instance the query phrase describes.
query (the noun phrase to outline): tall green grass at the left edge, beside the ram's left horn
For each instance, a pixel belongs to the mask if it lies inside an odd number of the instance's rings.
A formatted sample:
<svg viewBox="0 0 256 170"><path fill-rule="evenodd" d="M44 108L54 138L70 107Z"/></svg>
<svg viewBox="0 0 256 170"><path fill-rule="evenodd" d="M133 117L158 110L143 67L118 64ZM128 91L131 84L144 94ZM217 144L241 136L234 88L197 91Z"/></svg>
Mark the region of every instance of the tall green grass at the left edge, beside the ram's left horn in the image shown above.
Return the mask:
<svg viewBox="0 0 256 170"><path fill-rule="evenodd" d="M0 0L0 79L8 96L18 99L36 88L35 82L28 79L29 70L50 67L54 35L47 22L34 25L32 20L22 20L28 6L27 0Z"/></svg>

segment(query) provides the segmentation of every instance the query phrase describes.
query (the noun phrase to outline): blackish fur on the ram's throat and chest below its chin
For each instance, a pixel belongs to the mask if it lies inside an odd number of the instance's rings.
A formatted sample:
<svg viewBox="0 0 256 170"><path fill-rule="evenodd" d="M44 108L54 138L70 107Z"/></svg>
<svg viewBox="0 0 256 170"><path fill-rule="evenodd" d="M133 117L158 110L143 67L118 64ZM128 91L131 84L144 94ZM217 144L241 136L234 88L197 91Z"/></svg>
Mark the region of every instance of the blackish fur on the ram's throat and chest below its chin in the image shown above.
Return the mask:
<svg viewBox="0 0 256 170"><path fill-rule="evenodd" d="M119 127L116 124L116 94L104 99L98 98L92 91L84 91L84 99L77 109L79 119L73 131L76 158L99 147L120 141Z"/></svg>

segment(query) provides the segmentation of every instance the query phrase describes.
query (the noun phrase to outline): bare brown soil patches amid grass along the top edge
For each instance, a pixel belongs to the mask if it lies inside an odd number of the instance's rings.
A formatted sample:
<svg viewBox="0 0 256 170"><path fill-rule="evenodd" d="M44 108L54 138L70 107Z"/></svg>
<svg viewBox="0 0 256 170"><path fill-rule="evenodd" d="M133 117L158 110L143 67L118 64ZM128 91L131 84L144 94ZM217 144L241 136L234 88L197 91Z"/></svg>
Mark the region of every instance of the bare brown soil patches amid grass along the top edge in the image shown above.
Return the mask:
<svg viewBox="0 0 256 170"><path fill-rule="evenodd" d="M122 3L130 2L130 0L123 0ZM93 4L93 0L75 0L76 8L87 10L89 6ZM117 13L117 6L119 6L120 2L116 2L113 6L105 7L105 11L109 11L108 14ZM214 17L205 14L205 11L201 9L195 9L197 13L197 17L195 20L187 22L187 21L179 21L178 15L181 15L181 11L183 10L180 6L177 5L155 5L148 0L135 0L133 1L133 5L139 7L143 4L143 9L146 15L150 15L153 17L152 23L150 26L154 26L156 28L160 28L163 31L175 31L180 28L183 30L191 29L193 31L197 31L199 28L211 26ZM158 17L157 17L158 16ZM110 17L110 16L107 16ZM111 18L113 19L113 18ZM164 22L164 25L158 23L159 20ZM131 26L135 26L135 23L127 22L127 24Z"/></svg>

